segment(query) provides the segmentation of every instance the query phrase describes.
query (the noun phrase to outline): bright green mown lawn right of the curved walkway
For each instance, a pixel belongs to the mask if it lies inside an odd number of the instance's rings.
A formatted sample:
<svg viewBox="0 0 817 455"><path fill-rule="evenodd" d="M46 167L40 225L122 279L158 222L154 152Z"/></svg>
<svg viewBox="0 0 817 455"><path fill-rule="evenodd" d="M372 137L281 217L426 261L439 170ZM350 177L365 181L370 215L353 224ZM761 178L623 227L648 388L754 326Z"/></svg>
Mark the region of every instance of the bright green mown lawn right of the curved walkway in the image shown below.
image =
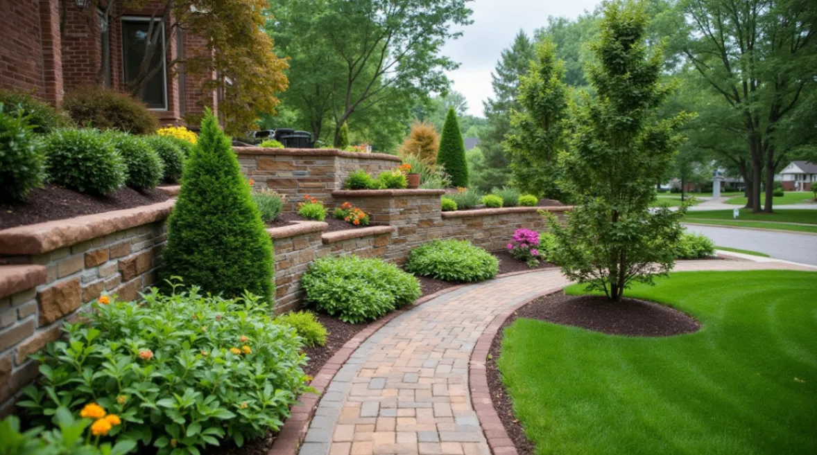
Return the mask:
<svg viewBox="0 0 817 455"><path fill-rule="evenodd" d="M699 332L628 338L521 319L499 368L538 455L817 453L815 283L815 272L675 273L627 295L689 313Z"/></svg>

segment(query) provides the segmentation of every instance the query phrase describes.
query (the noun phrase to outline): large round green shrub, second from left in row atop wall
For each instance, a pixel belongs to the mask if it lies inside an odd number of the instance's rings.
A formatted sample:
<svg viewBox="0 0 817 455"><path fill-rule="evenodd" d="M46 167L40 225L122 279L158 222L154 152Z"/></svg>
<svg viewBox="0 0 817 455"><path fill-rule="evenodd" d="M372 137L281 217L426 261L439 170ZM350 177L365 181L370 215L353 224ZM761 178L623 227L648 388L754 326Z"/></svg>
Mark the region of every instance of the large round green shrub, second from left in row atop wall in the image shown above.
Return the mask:
<svg viewBox="0 0 817 455"><path fill-rule="evenodd" d="M109 194L125 184L122 156L97 130L56 130L42 150L49 183L91 194Z"/></svg>

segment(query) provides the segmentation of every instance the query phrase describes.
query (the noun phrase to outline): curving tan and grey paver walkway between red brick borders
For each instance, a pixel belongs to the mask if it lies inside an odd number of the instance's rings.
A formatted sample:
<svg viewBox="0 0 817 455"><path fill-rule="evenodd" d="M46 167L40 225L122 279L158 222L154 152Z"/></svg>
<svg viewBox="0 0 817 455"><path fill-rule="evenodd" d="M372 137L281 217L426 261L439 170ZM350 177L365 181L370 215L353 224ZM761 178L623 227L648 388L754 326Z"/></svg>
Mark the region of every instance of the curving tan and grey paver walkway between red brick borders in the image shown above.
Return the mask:
<svg viewBox="0 0 817 455"><path fill-rule="evenodd" d="M769 268L798 267L709 260L679 263L676 270ZM488 455L467 384L475 342L506 308L567 284L558 269L508 276L395 317L333 378L300 455Z"/></svg>

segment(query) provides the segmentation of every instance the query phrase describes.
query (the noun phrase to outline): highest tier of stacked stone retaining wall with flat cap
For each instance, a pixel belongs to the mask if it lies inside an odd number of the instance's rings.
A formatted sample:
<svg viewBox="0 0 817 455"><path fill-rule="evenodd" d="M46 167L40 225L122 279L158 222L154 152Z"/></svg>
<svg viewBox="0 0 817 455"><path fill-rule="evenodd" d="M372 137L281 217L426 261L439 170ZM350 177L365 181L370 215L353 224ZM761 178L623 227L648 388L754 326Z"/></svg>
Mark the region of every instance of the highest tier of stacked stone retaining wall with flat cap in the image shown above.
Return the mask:
<svg viewBox="0 0 817 455"><path fill-rule="evenodd" d="M400 165L400 158L383 153L342 152L328 148L236 147L241 170L254 188L272 188L287 197L284 210L304 196L331 203L332 192L357 169L377 176Z"/></svg>

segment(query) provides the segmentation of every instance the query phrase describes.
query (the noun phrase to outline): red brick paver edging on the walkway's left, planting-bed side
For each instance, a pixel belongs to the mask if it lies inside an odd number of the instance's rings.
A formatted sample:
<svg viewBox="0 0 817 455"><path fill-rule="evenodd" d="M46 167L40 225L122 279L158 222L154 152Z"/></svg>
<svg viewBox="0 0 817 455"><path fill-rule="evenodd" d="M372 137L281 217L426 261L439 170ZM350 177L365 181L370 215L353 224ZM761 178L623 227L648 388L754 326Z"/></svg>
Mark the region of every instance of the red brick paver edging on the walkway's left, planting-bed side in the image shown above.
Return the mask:
<svg viewBox="0 0 817 455"><path fill-rule="evenodd" d="M502 275L494 276L493 279L495 280L497 278L505 278L507 276L524 275L525 273L533 272L542 272L542 269L532 268L530 270L522 270L520 272L503 273ZM400 316L405 311L411 310L414 307L418 307L423 303L426 303L434 298L438 298L441 295L449 294L450 292L462 289L468 285L473 284L475 283L464 283L462 285L455 285L451 286L450 288L440 289L434 294L428 294L422 296L421 298L417 298L417 300L415 300L410 305L406 305L405 307L402 307L399 310L391 311L391 313L387 314L386 316L383 316L381 319L373 321L371 324L368 325L368 327L359 331L358 334L356 334L354 337L350 338L349 341L344 343L343 347L339 349L337 352L335 352L335 355L332 356L332 358L327 360L326 364L324 364L320 371L317 374L315 374L315 378L312 380L312 382L310 382L310 386L315 388L315 391L318 391L319 394L323 393L326 390L326 387L328 387L329 384L332 382L333 378L335 378L337 372L340 371L343 364L346 364L346 360L349 360L349 357L357 350L357 348L360 347L360 345L363 344L363 342L366 341L369 337L377 333L377 330L382 329L384 325L389 323L395 317ZM558 291L551 290L548 291L545 295L551 294L551 292ZM535 298L539 297L541 296L537 296ZM522 305L525 305L526 303L529 302L530 300L526 301L525 303L522 303ZM508 314L510 315L511 313ZM504 321L506 318L507 316L504 316L502 318L502 321ZM494 333L496 333L496 330L494 330ZM493 340L493 336L491 337L491 339ZM480 341L481 340L482 337L480 336ZM490 347L490 342L488 346ZM473 359L473 357L474 357L473 353L471 353L471 359ZM471 380L470 366L468 367L468 374L470 382ZM488 398L490 400L490 395ZM471 397L471 400L473 401L473 396ZM299 401L301 402L301 405L292 406L289 418L283 422L283 426L281 427L278 436L275 438L275 441L272 443L272 447L270 448L270 452L268 453L268 455L297 455L298 448L301 447L301 443L303 443L304 438L306 438L306 431L309 430L310 422L312 422L312 417L315 416L315 409L318 409L320 395L316 394L310 394L306 396L301 395ZM494 414L496 414L496 412L494 412ZM480 413L478 411L477 417L479 416ZM481 423L482 419L480 418L480 424ZM502 431L505 430L503 429Z"/></svg>

